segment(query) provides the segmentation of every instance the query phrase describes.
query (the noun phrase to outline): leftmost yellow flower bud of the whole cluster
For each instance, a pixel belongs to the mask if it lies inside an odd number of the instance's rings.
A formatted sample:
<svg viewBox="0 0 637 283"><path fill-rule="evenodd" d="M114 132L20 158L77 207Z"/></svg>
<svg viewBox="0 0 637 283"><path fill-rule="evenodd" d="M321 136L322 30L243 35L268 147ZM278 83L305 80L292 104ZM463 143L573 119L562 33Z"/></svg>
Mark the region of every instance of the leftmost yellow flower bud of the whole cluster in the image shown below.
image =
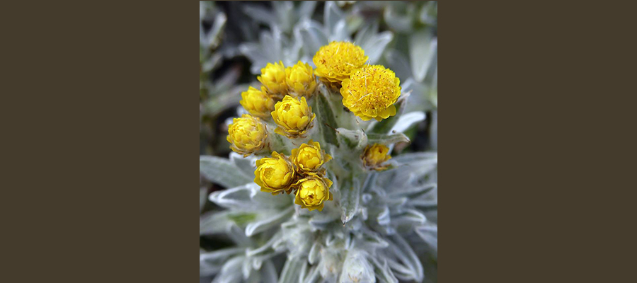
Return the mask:
<svg viewBox="0 0 637 283"><path fill-rule="evenodd" d="M263 122L257 117L243 114L241 118L232 119L226 140L234 152L248 156L263 149L266 137L268 132Z"/></svg>

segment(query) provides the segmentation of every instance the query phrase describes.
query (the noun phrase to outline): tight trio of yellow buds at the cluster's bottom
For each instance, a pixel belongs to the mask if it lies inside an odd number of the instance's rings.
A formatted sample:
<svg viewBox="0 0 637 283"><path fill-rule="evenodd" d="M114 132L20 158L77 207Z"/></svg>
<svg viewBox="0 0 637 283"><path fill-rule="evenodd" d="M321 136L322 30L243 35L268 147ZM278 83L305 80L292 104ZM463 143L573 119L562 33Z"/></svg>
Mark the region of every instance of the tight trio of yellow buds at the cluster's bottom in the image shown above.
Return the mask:
<svg viewBox="0 0 637 283"><path fill-rule="evenodd" d="M294 191L294 203L309 210L319 209L320 212L325 202L332 200L332 181L325 177L325 169L321 168L331 158L321 150L319 142L312 140L292 149L289 157L274 151L272 157L256 161L254 183L263 192L271 192L272 195Z"/></svg>

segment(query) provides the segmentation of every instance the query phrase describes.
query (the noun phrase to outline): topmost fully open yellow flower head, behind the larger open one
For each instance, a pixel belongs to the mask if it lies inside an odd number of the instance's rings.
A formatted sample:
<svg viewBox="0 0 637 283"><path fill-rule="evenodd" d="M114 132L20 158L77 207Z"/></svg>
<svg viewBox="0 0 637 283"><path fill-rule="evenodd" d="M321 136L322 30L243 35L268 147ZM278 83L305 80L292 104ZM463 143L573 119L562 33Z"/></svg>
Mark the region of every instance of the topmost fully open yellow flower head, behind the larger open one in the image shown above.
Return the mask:
<svg viewBox="0 0 637 283"><path fill-rule="evenodd" d="M333 41L329 45L321 47L314 54L314 64L316 76L320 76L323 81L340 83L348 79L356 69L363 67L368 57L360 46L350 42Z"/></svg>

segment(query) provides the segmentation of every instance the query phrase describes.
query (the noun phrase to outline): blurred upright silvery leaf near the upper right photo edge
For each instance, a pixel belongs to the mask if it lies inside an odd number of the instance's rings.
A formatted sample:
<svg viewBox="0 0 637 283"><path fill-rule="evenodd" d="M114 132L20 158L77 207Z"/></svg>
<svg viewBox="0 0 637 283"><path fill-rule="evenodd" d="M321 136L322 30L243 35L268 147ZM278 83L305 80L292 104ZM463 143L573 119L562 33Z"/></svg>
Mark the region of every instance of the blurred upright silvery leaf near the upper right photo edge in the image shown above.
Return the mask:
<svg viewBox="0 0 637 283"><path fill-rule="evenodd" d="M422 82L432 57L437 53L438 42L433 38L430 29L420 30L409 38L409 55L411 70L416 81Z"/></svg>

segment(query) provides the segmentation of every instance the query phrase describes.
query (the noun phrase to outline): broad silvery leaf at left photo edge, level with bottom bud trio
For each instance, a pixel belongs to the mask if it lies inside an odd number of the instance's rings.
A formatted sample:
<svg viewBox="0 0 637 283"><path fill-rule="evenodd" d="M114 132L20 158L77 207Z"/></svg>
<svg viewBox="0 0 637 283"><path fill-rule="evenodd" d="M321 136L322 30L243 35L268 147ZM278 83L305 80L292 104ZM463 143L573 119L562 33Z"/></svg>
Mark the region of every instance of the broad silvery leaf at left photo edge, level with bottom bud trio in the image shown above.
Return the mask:
<svg viewBox="0 0 637 283"><path fill-rule="evenodd" d="M199 171L207 180L224 187L237 187L253 180L229 159L216 156L199 156Z"/></svg>

